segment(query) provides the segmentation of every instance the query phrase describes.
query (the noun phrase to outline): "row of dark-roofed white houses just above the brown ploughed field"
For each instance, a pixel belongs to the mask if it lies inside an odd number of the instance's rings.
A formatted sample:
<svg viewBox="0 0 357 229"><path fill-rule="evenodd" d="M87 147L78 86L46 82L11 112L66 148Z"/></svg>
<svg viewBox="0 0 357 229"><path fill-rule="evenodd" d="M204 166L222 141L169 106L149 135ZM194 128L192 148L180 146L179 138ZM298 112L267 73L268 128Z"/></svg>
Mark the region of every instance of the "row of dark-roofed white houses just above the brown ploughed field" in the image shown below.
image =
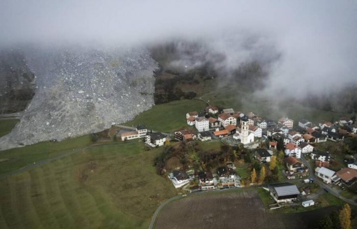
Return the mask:
<svg viewBox="0 0 357 229"><path fill-rule="evenodd" d="M188 175L184 170L176 170L168 175L175 188L188 185L191 181L196 185L190 187L190 191L206 191L217 188L241 187L240 177L236 174L233 163L226 163L217 168L216 174L211 171L198 171Z"/></svg>

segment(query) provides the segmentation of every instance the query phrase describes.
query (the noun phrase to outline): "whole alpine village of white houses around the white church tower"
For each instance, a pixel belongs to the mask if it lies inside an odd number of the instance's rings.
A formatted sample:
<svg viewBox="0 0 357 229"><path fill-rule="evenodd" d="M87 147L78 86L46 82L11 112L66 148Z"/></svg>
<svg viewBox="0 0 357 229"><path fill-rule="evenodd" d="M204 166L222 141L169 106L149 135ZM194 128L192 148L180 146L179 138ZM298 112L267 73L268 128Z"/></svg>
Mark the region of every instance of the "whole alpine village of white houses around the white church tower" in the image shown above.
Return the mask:
<svg viewBox="0 0 357 229"><path fill-rule="evenodd" d="M340 118L336 122L321 120L315 125L305 119L295 123L288 117L282 117L275 122L253 112L244 114L232 108L219 109L211 105L200 112L188 111L185 119L187 128L176 130L173 134L154 132L138 125L133 131L119 131L117 136L122 141L143 138L151 148L169 145L170 141L185 145L197 141L219 141L225 146L243 147L250 152L249 157L254 163L261 164L259 174L258 169L253 167L245 180L237 170L237 162L232 160L225 160L212 170L192 166L164 170L174 187L183 193L258 186L265 189L274 201L270 209L297 204L313 206L318 196L314 190L318 186L324 192L335 194L345 201L347 199L347 202L356 197L351 192L347 194L346 189L354 190L356 187L357 154L340 158L343 167L333 170L337 155L318 147L324 142L335 144L345 138L357 137L357 126L352 119ZM265 181L270 170L278 173L277 182Z"/></svg>

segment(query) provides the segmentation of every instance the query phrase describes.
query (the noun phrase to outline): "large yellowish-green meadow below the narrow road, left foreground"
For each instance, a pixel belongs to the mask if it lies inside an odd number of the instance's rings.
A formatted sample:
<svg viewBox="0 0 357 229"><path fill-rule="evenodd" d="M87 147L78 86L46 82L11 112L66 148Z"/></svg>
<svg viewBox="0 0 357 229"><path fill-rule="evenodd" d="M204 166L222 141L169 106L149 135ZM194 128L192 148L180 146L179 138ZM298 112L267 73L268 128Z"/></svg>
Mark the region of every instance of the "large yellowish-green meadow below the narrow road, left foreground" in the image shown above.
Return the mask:
<svg viewBox="0 0 357 229"><path fill-rule="evenodd" d="M1 228L147 228L176 190L140 142L91 147L0 183Z"/></svg>

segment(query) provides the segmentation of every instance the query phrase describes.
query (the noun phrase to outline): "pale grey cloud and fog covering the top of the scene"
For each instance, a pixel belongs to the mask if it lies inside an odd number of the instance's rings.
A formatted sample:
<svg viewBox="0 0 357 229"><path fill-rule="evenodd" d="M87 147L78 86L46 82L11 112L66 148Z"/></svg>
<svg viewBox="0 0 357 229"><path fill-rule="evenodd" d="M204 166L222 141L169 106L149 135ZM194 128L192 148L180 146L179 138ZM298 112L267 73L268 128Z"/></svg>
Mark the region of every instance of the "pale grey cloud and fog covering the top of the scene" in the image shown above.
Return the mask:
<svg viewBox="0 0 357 229"><path fill-rule="evenodd" d="M305 85L297 93L303 95L357 82L357 1L1 0L0 32L1 44L208 39L229 65L250 53L241 50L240 36L227 37L250 33L282 56L268 91Z"/></svg>

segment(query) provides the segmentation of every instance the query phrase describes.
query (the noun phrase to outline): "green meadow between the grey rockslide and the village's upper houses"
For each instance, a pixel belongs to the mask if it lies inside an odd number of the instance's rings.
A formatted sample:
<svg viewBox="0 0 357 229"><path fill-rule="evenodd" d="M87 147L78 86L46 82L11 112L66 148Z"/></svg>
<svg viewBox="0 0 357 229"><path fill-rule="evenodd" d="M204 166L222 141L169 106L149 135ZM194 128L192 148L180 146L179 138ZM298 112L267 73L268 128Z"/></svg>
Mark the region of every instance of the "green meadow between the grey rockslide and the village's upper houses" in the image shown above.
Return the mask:
<svg viewBox="0 0 357 229"><path fill-rule="evenodd" d="M150 130L173 132L187 128L186 113L201 111L206 108L206 103L200 100L177 100L153 106L150 110L140 113L133 121L123 125L136 126L144 124Z"/></svg>

